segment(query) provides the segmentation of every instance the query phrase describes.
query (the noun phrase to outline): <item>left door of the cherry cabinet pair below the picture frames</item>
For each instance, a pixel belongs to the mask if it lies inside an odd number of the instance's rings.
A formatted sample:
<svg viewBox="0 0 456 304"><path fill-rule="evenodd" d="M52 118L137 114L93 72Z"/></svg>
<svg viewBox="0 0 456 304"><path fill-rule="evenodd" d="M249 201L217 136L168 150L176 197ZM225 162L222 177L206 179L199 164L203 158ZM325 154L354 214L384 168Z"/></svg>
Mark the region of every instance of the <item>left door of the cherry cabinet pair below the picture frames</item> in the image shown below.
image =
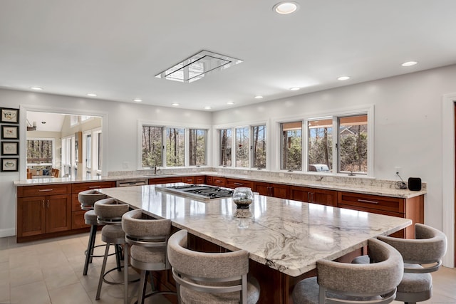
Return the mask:
<svg viewBox="0 0 456 304"><path fill-rule="evenodd" d="M46 196L17 199L17 236L36 236L46 230Z"/></svg>

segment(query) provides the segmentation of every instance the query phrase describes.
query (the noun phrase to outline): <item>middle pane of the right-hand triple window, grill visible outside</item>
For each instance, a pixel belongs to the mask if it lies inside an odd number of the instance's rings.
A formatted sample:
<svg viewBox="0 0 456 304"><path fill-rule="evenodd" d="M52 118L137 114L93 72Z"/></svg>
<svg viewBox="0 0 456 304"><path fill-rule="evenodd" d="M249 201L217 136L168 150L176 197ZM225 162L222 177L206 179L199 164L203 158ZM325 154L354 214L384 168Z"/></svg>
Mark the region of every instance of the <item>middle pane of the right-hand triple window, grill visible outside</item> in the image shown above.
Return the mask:
<svg viewBox="0 0 456 304"><path fill-rule="evenodd" d="M311 172L333 169L333 120L307 121L307 167Z"/></svg>

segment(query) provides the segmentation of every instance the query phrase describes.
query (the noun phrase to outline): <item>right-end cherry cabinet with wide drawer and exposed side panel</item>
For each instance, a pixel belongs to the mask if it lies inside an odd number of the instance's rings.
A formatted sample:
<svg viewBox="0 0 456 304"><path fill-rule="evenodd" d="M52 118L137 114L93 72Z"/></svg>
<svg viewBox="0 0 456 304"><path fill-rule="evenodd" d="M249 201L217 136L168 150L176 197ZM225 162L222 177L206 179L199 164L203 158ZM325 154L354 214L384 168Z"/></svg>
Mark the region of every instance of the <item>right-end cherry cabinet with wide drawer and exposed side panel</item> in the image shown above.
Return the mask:
<svg viewBox="0 0 456 304"><path fill-rule="evenodd" d="M411 226L393 234L395 237L405 239L414 239L415 223L424 223L423 195L415 196L410 199L401 199L398 197L338 192L337 206L346 209L411 219L413 221Z"/></svg>

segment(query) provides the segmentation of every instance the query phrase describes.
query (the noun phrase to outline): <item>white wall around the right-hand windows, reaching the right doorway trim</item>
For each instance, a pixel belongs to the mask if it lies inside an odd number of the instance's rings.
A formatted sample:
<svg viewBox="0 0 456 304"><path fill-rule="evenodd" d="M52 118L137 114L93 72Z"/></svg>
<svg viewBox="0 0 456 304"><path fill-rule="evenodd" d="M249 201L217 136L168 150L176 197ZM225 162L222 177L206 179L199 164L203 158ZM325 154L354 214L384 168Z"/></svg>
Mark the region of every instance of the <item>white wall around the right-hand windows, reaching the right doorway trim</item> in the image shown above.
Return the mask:
<svg viewBox="0 0 456 304"><path fill-rule="evenodd" d="M375 107L378 179L427 182L425 223L442 229L442 95L456 92L456 65L214 112L214 125L259 117L304 117L361 105ZM270 126L268 132L278 132Z"/></svg>

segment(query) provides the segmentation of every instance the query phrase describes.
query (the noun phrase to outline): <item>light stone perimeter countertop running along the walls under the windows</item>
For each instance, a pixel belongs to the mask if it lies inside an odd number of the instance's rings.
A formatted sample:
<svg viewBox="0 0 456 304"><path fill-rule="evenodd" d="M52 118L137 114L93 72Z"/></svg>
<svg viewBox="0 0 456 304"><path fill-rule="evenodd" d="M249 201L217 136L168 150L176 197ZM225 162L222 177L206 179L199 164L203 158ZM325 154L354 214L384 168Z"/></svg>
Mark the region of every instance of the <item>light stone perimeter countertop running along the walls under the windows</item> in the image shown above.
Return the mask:
<svg viewBox="0 0 456 304"><path fill-rule="evenodd" d="M107 177L66 177L66 178L45 178L45 179L25 179L14 182L14 186L36 186L36 185L46 185L46 184L67 184L67 183L80 183L80 182L105 182L105 181L117 181L117 180L132 180L132 179L154 179L154 178L164 178L164 177L186 177L186 176L196 176L196 175L209 175L213 177L226 177L234 179L247 179L254 182L271 182L277 184L287 184L290 186L299 186L299 187L311 187L316 189L326 189L334 191L346 191L346 192L355 192L360 194L373 194L381 196L390 196L398 197L403 199L410 199L415 196L420 196L427 193L427 190L424 188L421 191L410 191L408 189L395 189L393 183L390 181L377 181L375 179L362 179L362 178L352 178L352 179L342 179L343 182L340 182L340 179L337 182L328 182L328 181L318 181L318 180L306 180L300 179L299 174L286 174L285 177L277 177L275 174L266 174L261 177L246 175L246 174L230 174L223 172L182 172L182 173L167 173L162 174L142 174L142 175L112 175ZM318 179L318 175L314 175ZM336 179L336 177L325 177L326 179ZM370 183L366 183L368 180Z"/></svg>

